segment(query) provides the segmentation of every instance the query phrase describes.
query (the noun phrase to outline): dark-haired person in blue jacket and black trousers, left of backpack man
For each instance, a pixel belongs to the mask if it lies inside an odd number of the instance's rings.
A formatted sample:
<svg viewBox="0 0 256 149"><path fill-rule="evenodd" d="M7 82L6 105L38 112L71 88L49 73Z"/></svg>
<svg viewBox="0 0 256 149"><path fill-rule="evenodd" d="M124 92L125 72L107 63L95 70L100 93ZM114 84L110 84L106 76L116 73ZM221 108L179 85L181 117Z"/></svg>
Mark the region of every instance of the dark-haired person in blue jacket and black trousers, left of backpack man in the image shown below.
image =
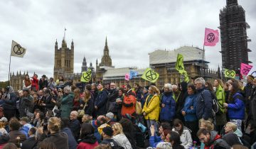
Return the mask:
<svg viewBox="0 0 256 149"><path fill-rule="evenodd" d="M196 117L196 87L194 84L188 84L188 96L186 97L185 104L181 110L184 116L185 126L189 128L192 133L193 140L198 140L196 132L198 131L198 118Z"/></svg>

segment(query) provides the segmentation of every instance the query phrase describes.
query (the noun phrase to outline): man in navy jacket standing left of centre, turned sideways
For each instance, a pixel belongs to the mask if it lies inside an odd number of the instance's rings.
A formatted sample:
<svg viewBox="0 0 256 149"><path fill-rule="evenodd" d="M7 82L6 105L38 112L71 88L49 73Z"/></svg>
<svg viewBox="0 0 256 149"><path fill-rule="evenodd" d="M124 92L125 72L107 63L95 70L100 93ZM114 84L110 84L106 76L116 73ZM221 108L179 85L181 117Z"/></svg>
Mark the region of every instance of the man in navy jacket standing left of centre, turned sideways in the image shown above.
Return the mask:
<svg viewBox="0 0 256 149"><path fill-rule="evenodd" d="M95 99L95 111L96 115L107 114L107 90L103 88L102 83L97 85L98 95Z"/></svg>

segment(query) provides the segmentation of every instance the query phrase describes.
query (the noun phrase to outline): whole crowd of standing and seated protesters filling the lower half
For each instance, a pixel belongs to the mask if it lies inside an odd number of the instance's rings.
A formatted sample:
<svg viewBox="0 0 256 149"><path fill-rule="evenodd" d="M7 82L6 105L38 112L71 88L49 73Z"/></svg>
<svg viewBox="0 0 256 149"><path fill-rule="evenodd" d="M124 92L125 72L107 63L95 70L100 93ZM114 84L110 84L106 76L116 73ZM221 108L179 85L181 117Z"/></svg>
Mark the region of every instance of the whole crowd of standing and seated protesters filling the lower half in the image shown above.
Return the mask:
<svg viewBox="0 0 256 149"><path fill-rule="evenodd" d="M0 148L256 148L252 75L161 89L26 75L0 99Z"/></svg>

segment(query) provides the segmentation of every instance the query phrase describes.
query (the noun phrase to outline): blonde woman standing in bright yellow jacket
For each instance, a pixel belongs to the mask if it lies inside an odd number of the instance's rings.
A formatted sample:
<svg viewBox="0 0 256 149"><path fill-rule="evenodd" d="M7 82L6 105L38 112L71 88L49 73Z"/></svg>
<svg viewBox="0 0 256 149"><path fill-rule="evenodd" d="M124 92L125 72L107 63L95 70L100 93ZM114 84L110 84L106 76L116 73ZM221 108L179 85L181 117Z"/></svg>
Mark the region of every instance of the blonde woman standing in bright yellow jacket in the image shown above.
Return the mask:
<svg viewBox="0 0 256 149"><path fill-rule="evenodd" d="M160 91L155 86L149 87L149 96L147 96L145 104L142 109L142 114L146 119L146 125L148 128L151 125L156 128L156 121L159 120L160 113L160 99L159 99Z"/></svg>

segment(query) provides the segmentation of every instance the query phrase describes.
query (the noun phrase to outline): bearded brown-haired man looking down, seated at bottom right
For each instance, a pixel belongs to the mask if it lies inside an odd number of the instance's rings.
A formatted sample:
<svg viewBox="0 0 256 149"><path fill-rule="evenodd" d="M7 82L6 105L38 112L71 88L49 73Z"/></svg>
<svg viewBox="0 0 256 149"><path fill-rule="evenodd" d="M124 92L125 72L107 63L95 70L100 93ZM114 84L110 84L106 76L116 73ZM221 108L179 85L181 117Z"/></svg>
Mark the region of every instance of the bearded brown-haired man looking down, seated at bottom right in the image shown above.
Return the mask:
<svg viewBox="0 0 256 149"><path fill-rule="evenodd" d="M201 143L205 144L206 149L210 148L230 148L225 140L220 138L216 131L208 131L204 128L199 129L197 136Z"/></svg>

